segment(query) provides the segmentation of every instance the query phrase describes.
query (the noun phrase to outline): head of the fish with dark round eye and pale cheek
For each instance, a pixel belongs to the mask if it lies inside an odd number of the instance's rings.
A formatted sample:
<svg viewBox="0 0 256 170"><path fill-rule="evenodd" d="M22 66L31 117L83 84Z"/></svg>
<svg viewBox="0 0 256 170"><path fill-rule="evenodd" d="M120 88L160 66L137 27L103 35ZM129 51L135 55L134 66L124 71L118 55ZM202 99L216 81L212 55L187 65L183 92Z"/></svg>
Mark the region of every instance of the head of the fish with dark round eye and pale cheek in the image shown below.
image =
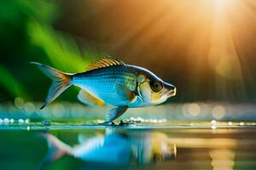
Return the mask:
<svg viewBox="0 0 256 170"><path fill-rule="evenodd" d="M166 99L176 95L176 88L170 83L162 81L150 71L137 75L137 92L140 97L151 105L158 105Z"/></svg>

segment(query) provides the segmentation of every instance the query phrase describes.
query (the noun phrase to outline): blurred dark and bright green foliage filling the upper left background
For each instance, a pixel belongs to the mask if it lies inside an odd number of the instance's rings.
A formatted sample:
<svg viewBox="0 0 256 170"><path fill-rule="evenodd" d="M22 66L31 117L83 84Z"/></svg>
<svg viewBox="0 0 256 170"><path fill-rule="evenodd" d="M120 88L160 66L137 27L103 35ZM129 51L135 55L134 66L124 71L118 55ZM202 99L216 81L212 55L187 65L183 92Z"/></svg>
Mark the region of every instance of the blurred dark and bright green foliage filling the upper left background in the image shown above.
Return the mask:
<svg viewBox="0 0 256 170"><path fill-rule="evenodd" d="M79 48L73 37L55 31L52 25L61 14L59 7L58 1L0 2L0 102L16 96L44 99L50 81L44 81L46 78L28 64L30 61L79 72L101 54Z"/></svg>

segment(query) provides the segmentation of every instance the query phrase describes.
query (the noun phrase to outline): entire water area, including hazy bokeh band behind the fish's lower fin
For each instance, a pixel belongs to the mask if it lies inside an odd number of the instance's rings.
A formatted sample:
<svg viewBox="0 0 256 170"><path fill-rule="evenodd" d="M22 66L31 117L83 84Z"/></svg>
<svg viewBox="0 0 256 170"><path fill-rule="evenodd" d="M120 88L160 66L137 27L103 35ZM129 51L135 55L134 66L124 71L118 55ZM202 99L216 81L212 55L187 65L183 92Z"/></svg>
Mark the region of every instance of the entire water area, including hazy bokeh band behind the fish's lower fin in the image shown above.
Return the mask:
<svg viewBox="0 0 256 170"><path fill-rule="evenodd" d="M38 107L0 105L1 170L256 169L252 104L160 105L113 125L101 124L108 108Z"/></svg>

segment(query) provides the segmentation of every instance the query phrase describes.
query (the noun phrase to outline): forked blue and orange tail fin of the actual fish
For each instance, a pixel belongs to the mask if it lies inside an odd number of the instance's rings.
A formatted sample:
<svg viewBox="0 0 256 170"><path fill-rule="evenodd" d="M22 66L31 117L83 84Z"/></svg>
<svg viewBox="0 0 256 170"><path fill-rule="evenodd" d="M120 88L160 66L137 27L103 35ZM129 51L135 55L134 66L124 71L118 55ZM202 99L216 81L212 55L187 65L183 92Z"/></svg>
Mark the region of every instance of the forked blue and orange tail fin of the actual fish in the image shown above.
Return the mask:
<svg viewBox="0 0 256 170"><path fill-rule="evenodd" d="M56 99L62 92L72 85L72 74L58 71L48 65L43 65L37 62L31 62L33 65L37 65L38 68L44 72L53 82L49 88L48 96L45 99L44 105L40 109L44 109L46 105Z"/></svg>

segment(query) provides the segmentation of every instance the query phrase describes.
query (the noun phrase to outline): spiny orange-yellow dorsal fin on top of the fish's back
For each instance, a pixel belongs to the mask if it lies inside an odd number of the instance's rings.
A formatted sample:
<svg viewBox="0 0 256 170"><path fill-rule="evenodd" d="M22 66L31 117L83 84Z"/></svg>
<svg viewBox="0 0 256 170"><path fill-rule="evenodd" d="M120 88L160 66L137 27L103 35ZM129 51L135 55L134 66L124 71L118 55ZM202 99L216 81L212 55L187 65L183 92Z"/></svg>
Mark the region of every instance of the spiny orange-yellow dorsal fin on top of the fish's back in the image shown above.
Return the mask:
<svg viewBox="0 0 256 170"><path fill-rule="evenodd" d="M103 57L102 59L96 60L94 63L90 64L85 71L92 71L100 69L103 67L113 66L113 65L125 65L125 63L119 59L113 59L112 57Z"/></svg>

